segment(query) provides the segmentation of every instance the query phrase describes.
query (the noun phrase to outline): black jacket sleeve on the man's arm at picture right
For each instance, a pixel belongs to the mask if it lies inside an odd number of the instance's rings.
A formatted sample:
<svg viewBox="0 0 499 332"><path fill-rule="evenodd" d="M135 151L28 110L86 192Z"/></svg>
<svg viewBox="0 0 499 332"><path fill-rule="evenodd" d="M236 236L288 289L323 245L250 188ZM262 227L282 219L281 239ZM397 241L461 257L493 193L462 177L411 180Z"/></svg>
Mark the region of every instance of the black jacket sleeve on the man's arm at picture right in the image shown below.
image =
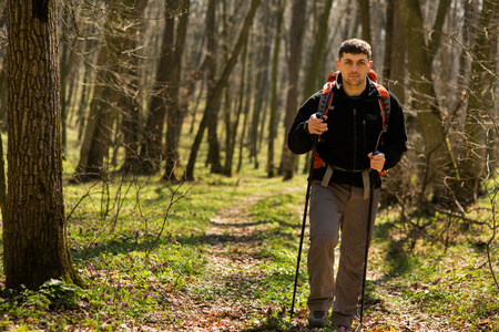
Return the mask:
<svg viewBox="0 0 499 332"><path fill-rule="evenodd" d="M384 169L389 169L397 165L404 153L407 152L407 132L404 112L400 103L393 93L390 93L388 129L384 135L384 145L380 152L385 154L386 159Z"/></svg>

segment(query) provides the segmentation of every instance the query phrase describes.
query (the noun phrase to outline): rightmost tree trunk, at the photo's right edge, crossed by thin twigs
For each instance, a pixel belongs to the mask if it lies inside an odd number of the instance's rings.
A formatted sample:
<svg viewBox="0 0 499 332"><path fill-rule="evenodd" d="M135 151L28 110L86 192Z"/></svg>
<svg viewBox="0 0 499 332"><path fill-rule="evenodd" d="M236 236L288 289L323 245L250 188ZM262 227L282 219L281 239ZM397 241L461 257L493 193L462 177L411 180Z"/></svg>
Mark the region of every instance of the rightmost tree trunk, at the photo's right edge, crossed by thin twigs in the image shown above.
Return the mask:
<svg viewBox="0 0 499 332"><path fill-rule="evenodd" d="M472 50L471 82L469 86L470 97L466 113L465 146L462 148L462 165L458 199L462 205L469 205L477 198L479 185L483 181L483 170L487 165L487 127L485 120L493 107L493 98L490 90L493 90L493 73L496 73L496 58L492 33L496 11L496 0L485 0L481 10L478 35Z"/></svg>

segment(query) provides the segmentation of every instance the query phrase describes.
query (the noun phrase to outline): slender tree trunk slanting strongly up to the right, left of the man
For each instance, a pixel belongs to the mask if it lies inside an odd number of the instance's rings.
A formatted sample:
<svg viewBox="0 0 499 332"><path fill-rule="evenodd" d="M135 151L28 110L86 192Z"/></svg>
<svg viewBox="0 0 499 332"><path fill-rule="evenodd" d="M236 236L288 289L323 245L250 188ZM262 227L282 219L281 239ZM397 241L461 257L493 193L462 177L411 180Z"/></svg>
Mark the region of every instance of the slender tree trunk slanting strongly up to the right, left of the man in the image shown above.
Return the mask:
<svg viewBox="0 0 499 332"><path fill-rule="evenodd" d="M203 118L200 123L200 128L197 129L197 134L194 138L194 143L191 147L191 155L189 156L189 162L187 162L187 166L185 169L185 173L183 175L183 178L185 180L193 180L194 179L194 166L196 163L196 158L197 158L197 152L200 151L200 146L201 146L201 141L203 139L203 134L204 131L206 129L206 125L207 125L207 120L210 118L211 114L208 114L208 110L210 107L213 106L213 104L215 103L215 101L217 100L217 97L220 97L220 95L222 94L222 90L224 87L224 85L227 83L228 81L228 76L232 73L232 70L234 69L236 62L237 62L237 56L241 53L241 50L243 49L244 45L244 40L247 35L247 32L249 30L249 25L253 22L253 18L255 17L255 12L256 9L258 8L259 3L262 2L262 0L252 0L252 4L249 8L249 11L246 15L246 19L243 23L243 28L241 29L237 42L234 46L233 52L231 53L231 59L228 61L228 63L225 65L222 75L220 77L220 80L217 81L214 90L213 90L213 94L212 96L206 101L206 107L205 107L205 112L203 114Z"/></svg>

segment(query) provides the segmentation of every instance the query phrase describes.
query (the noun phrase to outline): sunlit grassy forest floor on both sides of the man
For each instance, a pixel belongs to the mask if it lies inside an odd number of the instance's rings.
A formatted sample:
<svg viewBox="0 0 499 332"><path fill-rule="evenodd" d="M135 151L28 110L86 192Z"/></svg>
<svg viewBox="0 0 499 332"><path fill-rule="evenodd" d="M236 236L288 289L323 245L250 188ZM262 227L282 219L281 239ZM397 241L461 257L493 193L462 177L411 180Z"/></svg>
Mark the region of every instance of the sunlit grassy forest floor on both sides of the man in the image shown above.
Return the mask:
<svg viewBox="0 0 499 332"><path fill-rule="evenodd" d="M54 282L38 292L6 295L0 330L146 325L191 331L186 320L203 312L206 326L231 322L237 331L304 330L303 317L289 321L282 312L291 305L305 177L283 181L252 170L227 178L201 169L197 178L175 186L160 177L67 185L68 241L85 288ZM244 207L246 216L232 216L236 207ZM227 214L246 219L214 222ZM473 214L490 220L483 210ZM499 292L483 249L490 228L477 224L462 231L456 225L448 247L444 238L419 238L410 249L398 219L393 209L383 210L377 221L367 282L369 326L404 331L400 318L411 313L421 324L442 320L449 331L499 331ZM440 225L435 226L439 234L445 217L425 221ZM210 232L213 227L216 234ZM497 243L491 246L496 273ZM298 311L305 309L308 289L306 249L305 240ZM182 311L175 301L185 301ZM237 314L233 308L244 310ZM421 326L413 330L425 331Z"/></svg>

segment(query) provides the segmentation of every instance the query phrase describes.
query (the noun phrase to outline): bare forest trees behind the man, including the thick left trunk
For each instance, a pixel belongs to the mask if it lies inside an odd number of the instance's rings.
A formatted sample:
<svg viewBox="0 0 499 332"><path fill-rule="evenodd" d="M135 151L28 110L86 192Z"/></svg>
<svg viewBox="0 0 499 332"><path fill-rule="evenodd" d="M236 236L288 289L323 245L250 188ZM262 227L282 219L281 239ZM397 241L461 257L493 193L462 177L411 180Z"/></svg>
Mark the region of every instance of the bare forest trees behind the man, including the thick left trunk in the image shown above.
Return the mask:
<svg viewBox="0 0 499 332"><path fill-rule="evenodd" d="M40 3L0 1L7 290L84 284L65 227L72 212L84 219L94 188L115 234L133 179L169 188L170 212L206 172L303 178L309 157L291 154L286 133L354 37L373 45L379 83L406 114L409 152L385 178L383 207L401 210L410 249L421 235L448 246L455 231L486 229L477 241L497 286L498 1Z"/></svg>

